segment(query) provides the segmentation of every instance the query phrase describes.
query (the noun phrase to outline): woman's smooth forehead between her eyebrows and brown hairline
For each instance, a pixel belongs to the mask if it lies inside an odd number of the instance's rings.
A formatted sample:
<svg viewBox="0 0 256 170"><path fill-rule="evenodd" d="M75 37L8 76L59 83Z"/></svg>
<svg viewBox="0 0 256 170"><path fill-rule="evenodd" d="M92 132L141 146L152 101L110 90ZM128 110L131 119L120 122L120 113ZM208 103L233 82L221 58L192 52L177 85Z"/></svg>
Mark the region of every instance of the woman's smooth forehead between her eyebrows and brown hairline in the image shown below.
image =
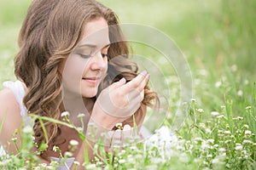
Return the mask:
<svg viewBox="0 0 256 170"><path fill-rule="evenodd" d="M110 43L108 36L108 23L102 17L90 20L84 26L84 34L79 46L93 45L105 47Z"/></svg>

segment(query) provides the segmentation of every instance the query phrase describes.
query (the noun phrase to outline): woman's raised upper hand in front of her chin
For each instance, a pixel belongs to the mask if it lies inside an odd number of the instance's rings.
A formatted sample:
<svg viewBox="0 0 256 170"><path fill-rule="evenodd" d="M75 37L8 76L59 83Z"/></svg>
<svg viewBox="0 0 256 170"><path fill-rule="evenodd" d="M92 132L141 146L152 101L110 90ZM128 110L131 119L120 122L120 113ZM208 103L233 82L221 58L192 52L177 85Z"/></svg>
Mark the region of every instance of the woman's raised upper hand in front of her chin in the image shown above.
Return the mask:
<svg viewBox="0 0 256 170"><path fill-rule="evenodd" d="M143 101L148 78L148 71L143 71L130 82L122 78L102 90L91 114L92 122L110 130L133 115Z"/></svg>

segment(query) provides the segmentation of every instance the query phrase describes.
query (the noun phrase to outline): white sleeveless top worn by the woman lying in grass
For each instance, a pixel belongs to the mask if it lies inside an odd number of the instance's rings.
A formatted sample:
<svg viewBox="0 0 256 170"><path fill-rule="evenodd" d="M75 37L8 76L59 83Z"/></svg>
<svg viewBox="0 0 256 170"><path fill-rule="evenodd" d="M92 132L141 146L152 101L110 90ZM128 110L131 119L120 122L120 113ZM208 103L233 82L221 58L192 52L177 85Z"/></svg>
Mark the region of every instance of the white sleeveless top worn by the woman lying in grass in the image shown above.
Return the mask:
<svg viewBox="0 0 256 170"><path fill-rule="evenodd" d="M22 84L22 82L20 82L19 80L15 81L15 82L3 82L3 86L5 88L9 88L12 90L12 92L15 94L15 99L17 100L19 106L20 106L20 115L24 118L24 123L28 124L30 123L32 120L30 119L30 117L27 117L27 110L26 110L26 106L23 104L23 98L26 94L25 88ZM3 152L3 147L0 148L0 153ZM53 161L61 161L59 158L57 157L50 157L51 160ZM70 157L67 158L65 165L58 167L58 170L67 170L69 169L72 164L73 161L75 160L74 157Z"/></svg>

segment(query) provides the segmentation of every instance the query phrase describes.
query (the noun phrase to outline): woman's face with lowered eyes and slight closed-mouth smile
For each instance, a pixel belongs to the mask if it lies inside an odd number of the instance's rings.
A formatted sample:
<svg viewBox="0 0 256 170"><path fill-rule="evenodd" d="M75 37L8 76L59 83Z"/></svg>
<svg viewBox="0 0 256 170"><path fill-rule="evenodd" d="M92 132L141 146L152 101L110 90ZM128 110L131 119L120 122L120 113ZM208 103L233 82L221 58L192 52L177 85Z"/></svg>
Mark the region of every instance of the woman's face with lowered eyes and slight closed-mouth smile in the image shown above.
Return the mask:
<svg viewBox="0 0 256 170"><path fill-rule="evenodd" d="M108 70L108 23L102 17L84 26L83 40L61 61L64 95L81 94L84 98L96 96L97 89Z"/></svg>

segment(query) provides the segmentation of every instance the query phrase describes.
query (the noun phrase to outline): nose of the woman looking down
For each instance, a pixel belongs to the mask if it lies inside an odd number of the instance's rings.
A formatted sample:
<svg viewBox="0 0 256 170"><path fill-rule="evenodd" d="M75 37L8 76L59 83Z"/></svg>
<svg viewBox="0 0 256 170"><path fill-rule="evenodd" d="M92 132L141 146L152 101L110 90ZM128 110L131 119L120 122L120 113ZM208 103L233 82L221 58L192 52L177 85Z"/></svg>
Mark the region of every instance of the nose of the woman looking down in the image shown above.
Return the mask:
<svg viewBox="0 0 256 170"><path fill-rule="evenodd" d="M107 57L102 57L102 53L101 51L99 51L91 58L90 69L93 71L101 71L106 68L107 64Z"/></svg>

